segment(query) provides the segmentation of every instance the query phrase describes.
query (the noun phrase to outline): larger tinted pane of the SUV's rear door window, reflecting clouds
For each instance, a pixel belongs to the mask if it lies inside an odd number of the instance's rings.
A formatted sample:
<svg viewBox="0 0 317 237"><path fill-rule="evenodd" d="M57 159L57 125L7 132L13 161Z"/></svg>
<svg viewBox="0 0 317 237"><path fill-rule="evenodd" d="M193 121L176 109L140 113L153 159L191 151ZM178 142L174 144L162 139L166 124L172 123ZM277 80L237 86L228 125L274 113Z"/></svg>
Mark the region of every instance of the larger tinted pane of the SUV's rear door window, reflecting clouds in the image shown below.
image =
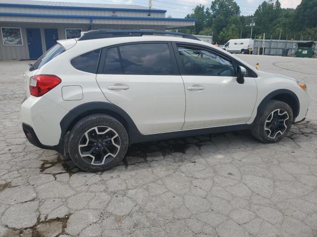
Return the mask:
<svg viewBox="0 0 317 237"><path fill-rule="evenodd" d="M125 74L169 75L173 73L167 43L140 43L119 47Z"/></svg>

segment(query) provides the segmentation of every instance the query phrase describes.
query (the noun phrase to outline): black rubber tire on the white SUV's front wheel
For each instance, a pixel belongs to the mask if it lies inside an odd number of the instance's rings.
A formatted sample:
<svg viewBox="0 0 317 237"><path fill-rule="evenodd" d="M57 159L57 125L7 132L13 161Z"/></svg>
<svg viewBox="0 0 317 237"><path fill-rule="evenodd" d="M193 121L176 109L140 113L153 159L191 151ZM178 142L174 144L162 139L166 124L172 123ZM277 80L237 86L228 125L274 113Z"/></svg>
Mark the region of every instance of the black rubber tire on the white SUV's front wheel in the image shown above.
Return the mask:
<svg viewBox="0 0 317 237"><path fill-rule="evenodd" d="M284 111L287 113L287 115L284 113ZM279 114L283 114L283 115L280 116L280 118L278 118ZM273 118L274 116L277 116L277 117ZM287 116L288 116L288 119L287 119ZM279 121L281 119L284 119L284 120ZM276 124L281 124L281 125L275 126ZM264 109L260 111L256 119L254 120L251 127L251 133L255 138L257 138L258 140L264 143L275 143L280 141L286 136L286 134L291 129L292 124L293 124L293 111L291 107L282 101L270 100L267 103L267 105L264 107ZM275 128L277 129L275 130ZM280 130L280 132L276 132L278 129ZM274 135L276 135L275 138L274 138Z"/></svg>

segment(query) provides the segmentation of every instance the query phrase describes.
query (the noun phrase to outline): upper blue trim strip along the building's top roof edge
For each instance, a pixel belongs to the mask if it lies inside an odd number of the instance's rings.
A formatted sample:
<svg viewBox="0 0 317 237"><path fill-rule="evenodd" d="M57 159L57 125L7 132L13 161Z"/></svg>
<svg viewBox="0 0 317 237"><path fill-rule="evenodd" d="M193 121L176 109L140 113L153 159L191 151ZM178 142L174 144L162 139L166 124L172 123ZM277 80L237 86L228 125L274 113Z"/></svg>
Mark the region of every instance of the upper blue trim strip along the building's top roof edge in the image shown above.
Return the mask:
<svg viewBox="0 0 317 237"><path fill-rule="evenodd" d="M0 3L0 6L7 7L28 7L28 8L59 8L59 9L75 9L75 10L108 10L108 11L142 11L148 12L149 9L130 9L130 8L111 8L111 7L89 7L89 6L51 6L51 5L34 5L34 4L18 4L18 3ZM166 10L151 9L152 12L166 12Z"/></svg>

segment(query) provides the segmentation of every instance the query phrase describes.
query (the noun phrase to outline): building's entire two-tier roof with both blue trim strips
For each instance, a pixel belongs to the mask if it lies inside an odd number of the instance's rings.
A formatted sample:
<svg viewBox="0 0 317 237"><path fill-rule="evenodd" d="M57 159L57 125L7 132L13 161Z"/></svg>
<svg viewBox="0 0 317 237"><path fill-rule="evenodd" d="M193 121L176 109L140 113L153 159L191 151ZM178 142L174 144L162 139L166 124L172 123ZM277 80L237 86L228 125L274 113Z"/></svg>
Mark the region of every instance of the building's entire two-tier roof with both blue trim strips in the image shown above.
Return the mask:
<svg viewBox="0 0 317 237"><path fill-rule="evenodd" d="M138 5L72 3L43 0L0 0L0 21L156 25L166 29L195 25L197 19L166 18L166 10Z"/></svg>

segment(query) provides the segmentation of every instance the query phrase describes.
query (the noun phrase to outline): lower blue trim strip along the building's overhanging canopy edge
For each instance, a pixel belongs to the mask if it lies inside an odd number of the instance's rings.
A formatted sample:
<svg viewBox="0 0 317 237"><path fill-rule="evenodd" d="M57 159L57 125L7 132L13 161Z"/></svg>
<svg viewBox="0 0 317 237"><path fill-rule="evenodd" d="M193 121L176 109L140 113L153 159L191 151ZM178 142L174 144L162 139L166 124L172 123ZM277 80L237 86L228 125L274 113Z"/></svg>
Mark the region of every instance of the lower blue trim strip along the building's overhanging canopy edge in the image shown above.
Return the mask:
<svg viewBox="0 0 317 237"><path fill-rule="evenodd" d="M0 16L25 16L25 17L50 17L50 18L85 18L85 19L112 19L112 20L164 20L164 21L197 21L190 18L164 18L164 17L130 17L130 16L85 16L85 15L54 15L54 14L32 14L0 12Z"/></svg>

